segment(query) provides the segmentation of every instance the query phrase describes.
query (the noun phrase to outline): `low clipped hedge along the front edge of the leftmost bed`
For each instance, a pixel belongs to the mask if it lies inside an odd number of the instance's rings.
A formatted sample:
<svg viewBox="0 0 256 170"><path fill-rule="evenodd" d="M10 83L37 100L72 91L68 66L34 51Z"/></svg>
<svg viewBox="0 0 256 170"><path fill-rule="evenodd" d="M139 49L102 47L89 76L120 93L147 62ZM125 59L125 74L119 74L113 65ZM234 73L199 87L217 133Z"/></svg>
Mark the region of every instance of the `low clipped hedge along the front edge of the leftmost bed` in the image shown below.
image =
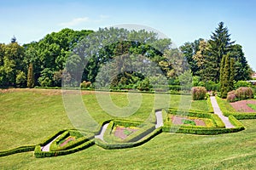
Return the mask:
<svg viewBox="0 0 256 170"><path fill-rule="evenodd" d="M94 143L94 139L91 139L87 142L85 142L84 144L80 144L77 147L74 147L73 149L70 150L58 150L58 151L42 151L41 150L41 146L37 145L35 147L34 150L34 156L36 156L37 158L41 158L41 157L51 157L51 156L65 156L68 154L72 154L75 153L79 150L84 150L88 147L90 147L91 145L95 144Z"/></svg>

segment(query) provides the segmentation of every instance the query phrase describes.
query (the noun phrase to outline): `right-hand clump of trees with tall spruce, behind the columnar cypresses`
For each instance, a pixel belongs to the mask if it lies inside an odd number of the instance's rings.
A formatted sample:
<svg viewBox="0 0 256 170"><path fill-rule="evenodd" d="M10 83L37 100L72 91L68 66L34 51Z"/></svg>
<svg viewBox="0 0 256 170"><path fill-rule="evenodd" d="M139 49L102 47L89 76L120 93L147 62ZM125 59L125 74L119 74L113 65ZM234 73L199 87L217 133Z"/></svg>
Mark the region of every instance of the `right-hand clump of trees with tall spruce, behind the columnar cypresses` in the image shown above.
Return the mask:
<svg viewBox="0 0 256 170"><path fill-rule="evenodd" d="M234 73L231 73L234 74L234 80L250 79L252 70L247 64L242 47L231 41L224 22L218 24L210 40L198 39L195 42L186 42L180 49L189 62L193 76L198 76L201 82L220 82L221 61L226 55L230 56L234 66Z"/></svg>

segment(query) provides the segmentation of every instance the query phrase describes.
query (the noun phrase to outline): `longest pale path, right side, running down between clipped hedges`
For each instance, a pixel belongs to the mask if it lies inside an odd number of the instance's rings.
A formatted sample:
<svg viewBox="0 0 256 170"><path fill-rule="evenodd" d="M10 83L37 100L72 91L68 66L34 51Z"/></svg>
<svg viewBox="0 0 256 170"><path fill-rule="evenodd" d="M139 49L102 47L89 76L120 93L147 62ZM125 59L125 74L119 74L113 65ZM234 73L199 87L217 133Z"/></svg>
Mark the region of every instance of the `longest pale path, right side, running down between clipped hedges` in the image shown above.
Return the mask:
<svg viewBox="0 0 256 170"><path fill-rule="evenodd" d="M211 103L212 103L212 108L213 108L214 114L219 116L219 118L224 122L225 127L226 128L233 128L233 127L235 127L230 122L229 117L224 116L222 111L220 111L220 108L218 106L218 103L217 103L217 100L216 100L215 96L211 96Z"/></svg>

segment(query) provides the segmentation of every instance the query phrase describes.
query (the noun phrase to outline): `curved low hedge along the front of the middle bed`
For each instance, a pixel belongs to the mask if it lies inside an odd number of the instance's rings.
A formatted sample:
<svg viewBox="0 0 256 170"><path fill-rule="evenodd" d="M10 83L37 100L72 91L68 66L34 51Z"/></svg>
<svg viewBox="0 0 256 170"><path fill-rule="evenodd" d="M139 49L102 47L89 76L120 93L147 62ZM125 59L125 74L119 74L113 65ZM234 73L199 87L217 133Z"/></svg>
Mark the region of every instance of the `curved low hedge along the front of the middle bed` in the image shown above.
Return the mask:
<svg viewBox="0 0 256 170"><path fill-rule="evenodd" d="M149 133L143 139L138 140L137 142L129 142L129 143L107 143L102 141L101 139L95 139L95 144L101 146L106 150L113 150L113 149L122 149L122 148L132 148L138 145L144 144L148 142L148 140L153 139L154 136L160 134L162 132L161 127L154 129L152 133Z"/></svg>

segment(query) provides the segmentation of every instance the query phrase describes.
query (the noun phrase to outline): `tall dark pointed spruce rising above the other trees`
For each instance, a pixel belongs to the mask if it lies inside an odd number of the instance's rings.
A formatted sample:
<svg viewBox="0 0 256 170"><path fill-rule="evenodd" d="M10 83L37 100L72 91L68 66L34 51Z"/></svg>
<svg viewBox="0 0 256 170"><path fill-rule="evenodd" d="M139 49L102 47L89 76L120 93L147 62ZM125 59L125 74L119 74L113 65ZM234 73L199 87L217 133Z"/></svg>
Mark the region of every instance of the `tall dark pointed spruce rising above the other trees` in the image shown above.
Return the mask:
<svg viewBox="0 0 256 170"><path fill-rule="evenodd" d="M224 22L218 24L218 28L212 32L211 39L209 40L210 50L209 50L209 59L212 66L212 75L214 75L213 81L219 81L220 75L220 63L224 54L230 52L231 45L234 42L231 42L229 30L227 27L224 27Z"/></svg>

